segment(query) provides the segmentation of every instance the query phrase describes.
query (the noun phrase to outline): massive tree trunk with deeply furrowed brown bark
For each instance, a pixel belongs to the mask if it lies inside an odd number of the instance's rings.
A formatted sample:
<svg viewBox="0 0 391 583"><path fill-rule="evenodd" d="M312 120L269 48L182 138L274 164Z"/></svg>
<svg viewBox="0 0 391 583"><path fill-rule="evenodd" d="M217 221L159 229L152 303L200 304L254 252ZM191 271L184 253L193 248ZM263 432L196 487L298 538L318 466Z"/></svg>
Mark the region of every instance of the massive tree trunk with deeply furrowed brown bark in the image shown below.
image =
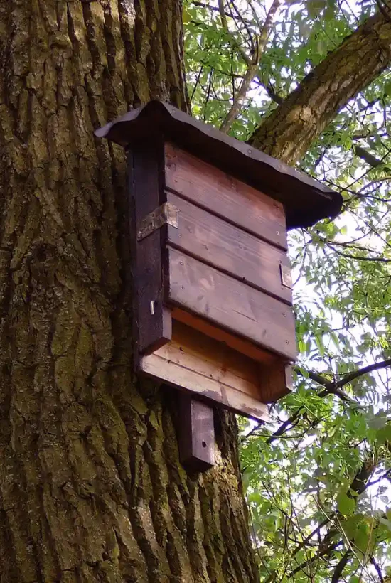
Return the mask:
<svg viewBox="0 0 391 583"><path fill-rule="evenodd" d="M180 0L0 7L0 581L255 582L232 417L178 462L176 397L131 374L122 149L93 129L186 109Z"/></svg>

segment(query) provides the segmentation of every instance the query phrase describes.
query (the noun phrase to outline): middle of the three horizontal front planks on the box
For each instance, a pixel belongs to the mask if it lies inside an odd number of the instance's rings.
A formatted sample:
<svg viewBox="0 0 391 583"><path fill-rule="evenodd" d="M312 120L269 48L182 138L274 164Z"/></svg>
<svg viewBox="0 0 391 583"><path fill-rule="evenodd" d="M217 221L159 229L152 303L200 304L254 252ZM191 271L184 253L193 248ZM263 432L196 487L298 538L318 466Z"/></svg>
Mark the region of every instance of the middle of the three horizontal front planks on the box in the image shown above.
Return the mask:
<svg viewBox="0 0 391 583"><path fill-rule="evenodd" d="M166 196L179 209L178 228L168 226L168 243L291 304L291 289L282 284L281 267L289 270L284 251L176 194Z"/></svg>

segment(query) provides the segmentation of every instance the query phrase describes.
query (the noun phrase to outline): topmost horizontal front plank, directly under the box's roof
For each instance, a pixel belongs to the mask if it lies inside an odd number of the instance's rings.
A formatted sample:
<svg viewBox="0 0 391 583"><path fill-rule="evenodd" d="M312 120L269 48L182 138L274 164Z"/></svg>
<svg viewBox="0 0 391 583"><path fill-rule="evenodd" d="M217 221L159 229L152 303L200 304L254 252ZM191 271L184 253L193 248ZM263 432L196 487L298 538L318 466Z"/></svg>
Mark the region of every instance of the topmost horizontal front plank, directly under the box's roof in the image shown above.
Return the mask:
<svg viewBox="0 0 391 583"><path fill-rule="evenodd" d="M165 144L166 186L211 213L286 249L282 203L173 144Z"/></svg>

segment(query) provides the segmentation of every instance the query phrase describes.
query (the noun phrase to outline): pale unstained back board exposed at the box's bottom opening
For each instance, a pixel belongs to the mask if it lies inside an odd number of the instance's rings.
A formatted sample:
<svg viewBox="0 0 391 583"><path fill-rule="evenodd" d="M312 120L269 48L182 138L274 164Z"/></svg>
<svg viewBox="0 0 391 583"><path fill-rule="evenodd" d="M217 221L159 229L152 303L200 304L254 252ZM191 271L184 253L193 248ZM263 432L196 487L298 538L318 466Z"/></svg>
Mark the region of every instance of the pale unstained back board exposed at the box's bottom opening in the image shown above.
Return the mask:
<svg viewBox="0 0 391 583"><path fill-rule="evenodd" d="M141 357L139 370L255 419L268 419L258 363L178 322L173 322L172 341Z"/></svg>

